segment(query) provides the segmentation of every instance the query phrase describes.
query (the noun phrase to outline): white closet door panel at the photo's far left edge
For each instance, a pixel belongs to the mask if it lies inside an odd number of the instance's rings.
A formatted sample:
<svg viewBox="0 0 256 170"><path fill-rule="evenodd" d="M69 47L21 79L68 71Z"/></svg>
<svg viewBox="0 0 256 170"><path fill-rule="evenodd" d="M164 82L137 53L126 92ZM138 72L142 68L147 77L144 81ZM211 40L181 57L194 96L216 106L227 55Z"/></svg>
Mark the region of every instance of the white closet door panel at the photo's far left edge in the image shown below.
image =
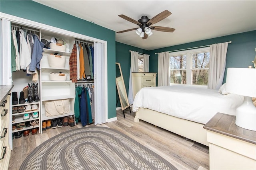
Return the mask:
<svg viewBox="0 0 256 170"><path fill-rule="evenodd" d="M12 69L11 69L11 22L1 19L0 25L0 84L12 84Z"/></svg>

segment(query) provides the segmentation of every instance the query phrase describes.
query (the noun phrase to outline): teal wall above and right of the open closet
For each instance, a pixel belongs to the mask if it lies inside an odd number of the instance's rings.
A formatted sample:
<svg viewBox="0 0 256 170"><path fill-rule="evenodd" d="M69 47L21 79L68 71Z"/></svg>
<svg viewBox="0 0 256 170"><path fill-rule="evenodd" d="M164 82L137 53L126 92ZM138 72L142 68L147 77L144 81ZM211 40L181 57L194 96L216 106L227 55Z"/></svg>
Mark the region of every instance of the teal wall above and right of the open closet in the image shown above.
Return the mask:
<svg viewBox="0 0 256 170"><path fill-rule="evenodd" d="M1 0L0 11L27 20L44 23L108 42L108 119L116 117L116 36L115 31L76 18L34 1ZM53 15L54 14L54 15Z"/></svg>

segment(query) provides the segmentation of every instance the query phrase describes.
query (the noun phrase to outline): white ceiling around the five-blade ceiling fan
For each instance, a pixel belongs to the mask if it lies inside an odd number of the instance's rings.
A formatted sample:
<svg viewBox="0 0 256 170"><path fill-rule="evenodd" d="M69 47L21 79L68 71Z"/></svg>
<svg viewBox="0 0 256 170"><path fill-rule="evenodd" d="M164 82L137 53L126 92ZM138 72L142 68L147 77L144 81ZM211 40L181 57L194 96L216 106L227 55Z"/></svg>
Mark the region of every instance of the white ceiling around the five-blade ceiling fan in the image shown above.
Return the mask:
<svg viewBox="0 0 256 170"><path fill-rule="evenodd" d="M144 40L135 31L116 33L116 41L146 50L256 30L255 0L35 1L116 32L138 27L120 18L120 14L139 20L141 16L152 18L169 10L172 15L154 25L175 28L173 33L152 31L153 34Z"/></svg>

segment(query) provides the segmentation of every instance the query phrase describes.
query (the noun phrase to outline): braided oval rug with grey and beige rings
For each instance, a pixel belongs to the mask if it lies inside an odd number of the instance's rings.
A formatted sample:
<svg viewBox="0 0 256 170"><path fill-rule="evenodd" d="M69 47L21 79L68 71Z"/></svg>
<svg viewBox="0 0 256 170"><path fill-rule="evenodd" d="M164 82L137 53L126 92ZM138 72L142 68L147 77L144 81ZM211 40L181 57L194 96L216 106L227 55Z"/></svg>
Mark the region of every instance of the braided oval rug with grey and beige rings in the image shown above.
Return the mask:
<svg viewBox="0 0 256 170"><path fill-rule="evenodd" d="M164 158L107 127L70 130L36 147L20 170L176 170Z"/></svg>

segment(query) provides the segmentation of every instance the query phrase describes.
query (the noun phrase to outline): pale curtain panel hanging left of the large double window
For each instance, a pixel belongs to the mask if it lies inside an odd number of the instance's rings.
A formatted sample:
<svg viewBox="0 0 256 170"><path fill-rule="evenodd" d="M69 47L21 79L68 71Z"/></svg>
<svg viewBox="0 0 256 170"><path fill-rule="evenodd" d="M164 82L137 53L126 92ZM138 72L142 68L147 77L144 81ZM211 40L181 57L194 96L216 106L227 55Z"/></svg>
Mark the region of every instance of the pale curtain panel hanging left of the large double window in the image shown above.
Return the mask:
<svg viewBox="0 0 256 170"><path fill-rule="evenodd" d="M169 52L158 53L158 86L169 86Z"/></svg>

